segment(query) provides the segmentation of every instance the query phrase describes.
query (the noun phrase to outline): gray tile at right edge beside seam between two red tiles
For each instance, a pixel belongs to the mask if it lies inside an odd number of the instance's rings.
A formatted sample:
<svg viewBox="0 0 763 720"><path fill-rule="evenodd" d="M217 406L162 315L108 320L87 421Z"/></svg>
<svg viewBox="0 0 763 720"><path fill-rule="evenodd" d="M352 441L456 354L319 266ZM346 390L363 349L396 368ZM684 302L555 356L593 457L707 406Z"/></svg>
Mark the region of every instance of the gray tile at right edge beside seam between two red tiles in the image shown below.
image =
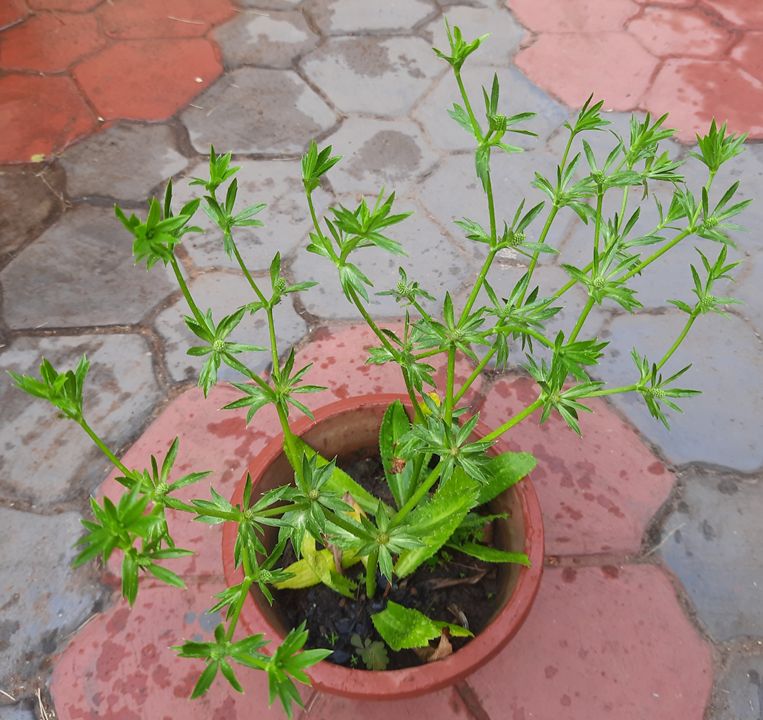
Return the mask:
<svg viewBox="0 0 763 720"><path fill-rule="evenodd" d="M660 553L716 640L763 637L763 483L687 471Z"/></svg>

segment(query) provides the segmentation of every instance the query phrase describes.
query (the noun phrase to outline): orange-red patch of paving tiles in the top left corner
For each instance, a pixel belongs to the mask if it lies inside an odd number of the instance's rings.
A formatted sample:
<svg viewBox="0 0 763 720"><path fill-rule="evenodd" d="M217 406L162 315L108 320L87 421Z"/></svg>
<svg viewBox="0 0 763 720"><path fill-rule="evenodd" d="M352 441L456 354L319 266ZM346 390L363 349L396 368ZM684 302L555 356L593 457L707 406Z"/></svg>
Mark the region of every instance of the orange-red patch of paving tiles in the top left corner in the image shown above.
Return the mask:
<svg viewBox="0 0 763 720"><path fill-rule="evenodd" d="M174 115L222 73L206 36L234 12L228 0L2 0L0 164Z"/></svg>

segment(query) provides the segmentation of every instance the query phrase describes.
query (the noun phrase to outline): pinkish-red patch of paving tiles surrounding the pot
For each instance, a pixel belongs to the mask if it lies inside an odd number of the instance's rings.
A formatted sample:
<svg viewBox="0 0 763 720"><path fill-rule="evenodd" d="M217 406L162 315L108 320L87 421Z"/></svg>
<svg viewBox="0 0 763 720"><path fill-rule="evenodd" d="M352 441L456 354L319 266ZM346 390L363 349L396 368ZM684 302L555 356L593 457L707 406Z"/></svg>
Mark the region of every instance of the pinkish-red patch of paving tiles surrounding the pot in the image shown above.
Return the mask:
<svg viewBox="0 0 763 720"><path fill-rule="evenodd" d="M390 368L363 364L369 344L368 331L355 326L313 336L297 362L315 362L311 382L330 386L310 396L313 407L364 389L400 390ZM484 400L488 424L534 399L521 379L483 384L481 392L473 399ZM211 484L231 495L248 459L277 432L272 413L258 414L247 428L242 415L218 409L236 394L220 387L204 401L198 390L187 391L125 462L142 467L179 435L176 472L212 470ZM673 476L604 403L596 410L583 425L584 442L554 423L538 429L533 420L512 438L540 460L533 481L549 550L568 557L550 560L530 617L508 648L466 684L416 700L359 703L306 689L302 717L640 720L648 711L650 720L701 719L712 686L710 647L685 617L665 572L632 560ZM207 487L201 483L183 497L207 496ZM110 480L102 492L115 497L120 486ZM190 578L188 590L149 583L132 611L116 602L74 636L54 665L59 720L280 717L278 710L267 714L264 678L254 671L241 673L244 696L217 686L202 701L186 699L199 668L169 646L211 633L215 621L203 612L222 586L222 533L187 515L170 522L179 544L198 553L171 566Z"/></svg>

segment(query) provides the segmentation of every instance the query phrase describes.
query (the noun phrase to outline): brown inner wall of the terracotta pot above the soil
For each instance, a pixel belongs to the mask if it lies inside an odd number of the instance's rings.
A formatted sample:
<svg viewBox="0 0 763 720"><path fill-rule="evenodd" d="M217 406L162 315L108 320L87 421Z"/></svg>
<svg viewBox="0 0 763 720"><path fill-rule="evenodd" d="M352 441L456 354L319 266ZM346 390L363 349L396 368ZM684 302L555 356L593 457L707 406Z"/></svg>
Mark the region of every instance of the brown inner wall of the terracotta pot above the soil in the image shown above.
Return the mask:
<svg viewBox="0 0 763 720"><path fill-rule="evenodd" d="M301 433L301 437L324 457L336 457L339 461L357 456L359 451L368 451L369 456L378 455L379 428L386 409L387 403L378 402L358 406L348 412L321 419L319 423ZM281 453L263 472L256 489L259 492L266 492L292 480L291 466L286 456ZM512 552L524 552L524 514L517 493L511 490L503 493L491 502L489 507L492 513L508 514L506 521L494 523L493 542L496 547ZM267 546L272 547L275 544L276 532L275 528L268 528L266 531ZM519 580L520 571L521 566L516 564L498 564L500 602L495 614L511 597ZM286 627L277 604L270 606L256 585L252 588L252 594L268 624L281 637L284 637L289 628Z"/></svg>

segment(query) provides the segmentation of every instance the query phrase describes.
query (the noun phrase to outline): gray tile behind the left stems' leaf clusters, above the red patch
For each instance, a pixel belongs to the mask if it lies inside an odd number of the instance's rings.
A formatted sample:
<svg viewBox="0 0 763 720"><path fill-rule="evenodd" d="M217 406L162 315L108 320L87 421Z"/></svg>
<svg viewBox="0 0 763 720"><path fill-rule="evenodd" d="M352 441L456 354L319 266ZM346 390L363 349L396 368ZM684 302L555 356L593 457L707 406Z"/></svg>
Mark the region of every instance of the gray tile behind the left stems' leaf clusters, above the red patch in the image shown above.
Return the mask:
<svg viewBox="0 0 763 720"><path fill-rule="evenodd" d="M263 292L270 288L269 279L262 279ZM212 317L219 322L246 303L256 300L246 280L230 272L210 272L200 275L189 284L194 300L202 312L212 309ZM205 358L186 354L189 347L199 345L199 341L188 330L183 317L190 314L185 300L163 310L156 318L156 329L164 339L164 357L172 378L177 381L197 380L199 370ZM287 351L307 332L307 324L297 315L291 300L287 297L275 309L276 333L279 351ZM254 317L245 315L239 326L230 335L233 342L269 347L267 319L264 312ZM262 372L270 366L270 352L252 352L239 356L239 359L255 372ZM224 380L242 381L241 375L223 365L218 377Z"/></svg>

